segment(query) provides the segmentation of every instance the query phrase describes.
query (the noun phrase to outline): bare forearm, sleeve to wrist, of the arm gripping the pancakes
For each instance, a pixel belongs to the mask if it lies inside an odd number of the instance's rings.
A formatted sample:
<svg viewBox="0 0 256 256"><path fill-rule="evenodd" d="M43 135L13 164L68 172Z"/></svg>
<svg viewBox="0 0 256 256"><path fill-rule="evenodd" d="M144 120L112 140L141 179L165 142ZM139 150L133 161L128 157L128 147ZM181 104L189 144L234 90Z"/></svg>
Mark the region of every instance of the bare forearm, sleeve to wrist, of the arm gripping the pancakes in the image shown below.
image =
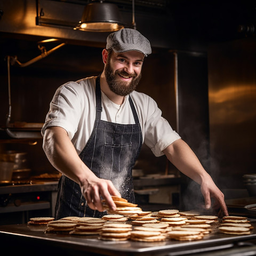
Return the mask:
<svg viewBox="0 0 256 256"><path fill-rule="evenodd" d="M43 149L55 169L78 184L94 175L77 155L67 132L61 127L50 127L46 130Z"/></svg>

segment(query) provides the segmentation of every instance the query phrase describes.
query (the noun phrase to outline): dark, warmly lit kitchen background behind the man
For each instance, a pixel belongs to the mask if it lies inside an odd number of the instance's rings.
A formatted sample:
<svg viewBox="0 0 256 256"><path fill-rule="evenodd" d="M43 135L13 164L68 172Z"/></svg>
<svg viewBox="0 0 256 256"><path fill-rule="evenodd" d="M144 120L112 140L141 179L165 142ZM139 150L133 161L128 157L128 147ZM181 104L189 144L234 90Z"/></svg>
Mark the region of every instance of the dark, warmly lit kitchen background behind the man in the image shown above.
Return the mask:
<svg viewBox="0 0 256 256"><path fill-rule="evenodd" d="M67 81L98 75L102 71L101 51L105 47L108 33L77 31L65 28L69 24L60 24L61 21L79 21L80 18L77 17L82 17L82 6L87 2L0 3L0 10L3 11L0 20L2 127L5 126L6 114L9 113L7 55L15 55L21 63L26 63L41 54L38 42L51 38L61 39L60 42L43 42L41 46L47 50L65 43L48 57L27 67L19 67L17 63L10 65L10 123L16 122L18 126L23 122L33 124L34 129L29 129L30 133L33 130L33 134L40 131L57 87ZM119 6L126 23L132 22L131 1L108 2ZM73 13L73 7L77 14ZM44 15L40 13L41 10ZM149 38L153 46L153 54L143 64L142 81L138 90L156 100L163 116L195 150L226 199L230 199L230 211L237 210L238 207L239 214L245 212L236 205L234 199L247 198L252 201L246 204L255 203L253 194L249 194L243 182L243 175L254 173L255 166L255 17L255 6L246 1L237 4L230 4L229 1L217 1L214 4L135 1L137 29ZM47 18L54 19L55 24L36 25L38 21L43 23L43 18L46 22ZM178 89L178 95L175 88ZM163 100L163 97L166 98ZM185 102L192 103L187 106ZM243 137L238 135L241 133ZM35 134L33 136L37 137ZM57 174L47 161L41 138L10 138L6 129L1 129L1 141L1 151L27 152L31 176ZM185 206L193 209L196 204L194 198L198 198L199 202L202 199L197 196L199 193L195 183L182 177L166 162L166 158L151 157L151 154L150 150L143 148L138 165L134 166L135 170L145 172L142 178L134 179L138 200L146 205L150 202L150 207L153 207L156 202L161 202L160 198L162 204L158 207L165 204L168 207L174 205L180 209L185 209ZM161 174L161 177L149 179L156 174ZM52 211L54 199L48 198L54 198L56 183L55 180L48 182L47 189L50 191L46 190L47 193L42 195L47 197L47 213ZM152 183L157 184L157 193ZM22 186L27 188L29 185ZM12 188L3 189L4 194L15 194ZM163 199L161 195L166 191L170 198ZM193 191L197 193L193 195L193 204L188 205L191 197L187 195ZM12 200L15 199L11 198ZM37 217L39 213L42 213L41 209L7 212L4 217L8 219L13 214L13 218L17 218L14 223L26 223L27 218ZM13 218L10 218L10 222ZM6 222L1 223L4 224Z"/></svg>

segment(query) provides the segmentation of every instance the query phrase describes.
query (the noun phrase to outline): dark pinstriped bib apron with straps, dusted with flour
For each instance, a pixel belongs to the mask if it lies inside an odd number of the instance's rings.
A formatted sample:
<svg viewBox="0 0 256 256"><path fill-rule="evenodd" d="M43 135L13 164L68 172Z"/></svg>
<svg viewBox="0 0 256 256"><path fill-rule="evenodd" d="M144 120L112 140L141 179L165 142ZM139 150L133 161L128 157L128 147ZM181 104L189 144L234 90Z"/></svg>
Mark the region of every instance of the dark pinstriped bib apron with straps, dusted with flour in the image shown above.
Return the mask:
<svg viewBox="0 0 256 256"><path fill-rule="evenodd" d="M96 79L96 117L89 140L79 157L98 177L111 180L121 196L135 203L132 168L142 146L142 132L137 111L129 95L135 124L117 124L101 120L100 76ZM81 188L65 175L59 180L55 219L68 216L101 218L107 212L90 209Z"/></svg>

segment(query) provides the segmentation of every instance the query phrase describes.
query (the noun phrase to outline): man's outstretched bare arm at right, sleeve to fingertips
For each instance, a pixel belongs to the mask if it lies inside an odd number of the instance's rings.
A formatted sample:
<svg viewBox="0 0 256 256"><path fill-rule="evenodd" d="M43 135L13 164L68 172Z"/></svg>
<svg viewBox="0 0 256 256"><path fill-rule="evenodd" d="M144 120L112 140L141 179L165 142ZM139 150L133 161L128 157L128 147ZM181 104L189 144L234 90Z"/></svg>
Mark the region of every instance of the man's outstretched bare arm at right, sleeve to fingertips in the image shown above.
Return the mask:
<svg viewBox="0 0 256 256"><path fill-rule="evenodd" d="M223 193L215 185L211 176L204 170L199 159L185 141L182 139L175 140L171 145L165 148L163 152L179 171L201 185L201 192L204 196L206 209L210 209L211 198L214 198L219 204L223 214L225 216L229 215Z"/></svg>

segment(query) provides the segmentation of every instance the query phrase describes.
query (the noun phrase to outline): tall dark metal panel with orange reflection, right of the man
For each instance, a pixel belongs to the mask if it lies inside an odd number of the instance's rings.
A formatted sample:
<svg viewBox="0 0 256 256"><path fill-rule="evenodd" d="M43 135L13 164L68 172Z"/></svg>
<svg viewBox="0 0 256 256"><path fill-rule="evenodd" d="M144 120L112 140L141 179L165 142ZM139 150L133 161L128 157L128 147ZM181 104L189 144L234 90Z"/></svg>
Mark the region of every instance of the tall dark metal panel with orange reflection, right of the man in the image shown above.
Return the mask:
<svg viewBox="0 0 256 256"><path fill-rule="evenodd" d="M246 38L208 51L211 166L220 188L243 188L243 174L255 173L255 46Z"/></svg>

